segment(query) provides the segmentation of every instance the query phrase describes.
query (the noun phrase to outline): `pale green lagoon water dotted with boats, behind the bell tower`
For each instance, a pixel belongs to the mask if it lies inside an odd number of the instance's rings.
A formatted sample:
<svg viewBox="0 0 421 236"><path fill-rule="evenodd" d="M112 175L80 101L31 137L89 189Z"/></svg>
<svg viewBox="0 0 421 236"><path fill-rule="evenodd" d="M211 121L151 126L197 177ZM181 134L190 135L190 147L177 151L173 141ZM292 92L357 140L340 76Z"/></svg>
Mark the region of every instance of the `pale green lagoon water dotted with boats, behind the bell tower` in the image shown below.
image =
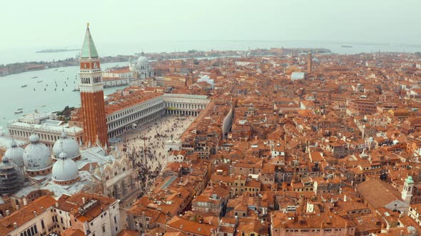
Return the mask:
<svg viewBox="0 0 421 236"><path fill-rule="evenodd" d="M116 65L127 63L104 63L101 67L104 69ZM54 112L66 106L79 106L80 94L72 91L78 85L78 70L78 66L71 66L0 77L0 127L6 127L10 120L33 113L35 109L39 112ZM104 94L109 95L121 88L108 87L104 89ZM19 108L23 108L23 113L14 114Z"/></svg>

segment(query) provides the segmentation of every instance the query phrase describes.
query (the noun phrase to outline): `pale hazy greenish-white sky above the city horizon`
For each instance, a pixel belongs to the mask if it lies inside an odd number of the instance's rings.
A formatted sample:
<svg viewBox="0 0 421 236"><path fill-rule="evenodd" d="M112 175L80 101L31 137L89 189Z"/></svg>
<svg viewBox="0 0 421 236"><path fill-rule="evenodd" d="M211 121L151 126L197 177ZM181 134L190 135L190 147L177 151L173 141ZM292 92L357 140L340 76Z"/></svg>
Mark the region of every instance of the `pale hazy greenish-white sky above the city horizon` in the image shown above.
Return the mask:
<svg viewBox="0 0 421 236"><path fill-rule="evenodd" d="M1 0L0 50L155 40L421 44L420 0Z"/></svg>

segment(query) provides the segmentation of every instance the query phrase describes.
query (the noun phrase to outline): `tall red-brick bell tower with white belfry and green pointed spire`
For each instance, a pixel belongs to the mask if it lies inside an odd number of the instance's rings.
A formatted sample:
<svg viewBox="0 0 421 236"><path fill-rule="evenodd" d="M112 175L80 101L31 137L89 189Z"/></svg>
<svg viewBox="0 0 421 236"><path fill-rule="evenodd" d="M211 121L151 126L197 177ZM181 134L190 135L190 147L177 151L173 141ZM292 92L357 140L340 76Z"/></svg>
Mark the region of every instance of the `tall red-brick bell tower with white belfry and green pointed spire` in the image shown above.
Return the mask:
<svg viewBox="0 0 421 236"><path fill-rule="evenodd" d="M95 144L98 139L101 146L106 146L108 135L101 64L89 31L89 23L86 26L79 64L83 141L85 144Z"/></svg>

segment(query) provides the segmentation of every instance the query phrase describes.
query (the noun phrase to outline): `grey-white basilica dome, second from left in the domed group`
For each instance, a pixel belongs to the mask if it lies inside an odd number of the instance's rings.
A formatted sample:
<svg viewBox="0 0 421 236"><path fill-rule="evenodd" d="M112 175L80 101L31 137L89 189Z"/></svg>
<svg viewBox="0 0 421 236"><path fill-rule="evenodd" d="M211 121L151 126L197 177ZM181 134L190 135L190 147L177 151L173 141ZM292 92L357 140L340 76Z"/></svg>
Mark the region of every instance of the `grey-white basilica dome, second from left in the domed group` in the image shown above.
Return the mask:
<svg viewBox="0 0 421 236"><path fill-rule="evenodd" d="M24 150L24 166L26 171L44 171L51 167L52 161L49 148L39 142L39 136L32 134L29 137L31 144Z"/></svg>

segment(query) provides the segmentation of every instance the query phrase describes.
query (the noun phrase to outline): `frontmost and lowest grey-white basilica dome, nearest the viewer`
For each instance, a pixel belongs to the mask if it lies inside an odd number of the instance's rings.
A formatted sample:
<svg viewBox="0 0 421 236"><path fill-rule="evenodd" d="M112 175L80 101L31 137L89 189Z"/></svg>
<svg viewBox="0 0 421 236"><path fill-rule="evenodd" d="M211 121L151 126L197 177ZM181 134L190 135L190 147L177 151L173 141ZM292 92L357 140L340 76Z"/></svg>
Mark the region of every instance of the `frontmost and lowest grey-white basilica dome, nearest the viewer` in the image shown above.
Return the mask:
<svg viewBox="0 0 421 236"><path fill-rule="evenodd" d="M61 152L59 160L54 163L51 174L54 181L73 181L75 178L78 178L79 170L76 163L72 159L67 158L64 152Z"/></svg>

